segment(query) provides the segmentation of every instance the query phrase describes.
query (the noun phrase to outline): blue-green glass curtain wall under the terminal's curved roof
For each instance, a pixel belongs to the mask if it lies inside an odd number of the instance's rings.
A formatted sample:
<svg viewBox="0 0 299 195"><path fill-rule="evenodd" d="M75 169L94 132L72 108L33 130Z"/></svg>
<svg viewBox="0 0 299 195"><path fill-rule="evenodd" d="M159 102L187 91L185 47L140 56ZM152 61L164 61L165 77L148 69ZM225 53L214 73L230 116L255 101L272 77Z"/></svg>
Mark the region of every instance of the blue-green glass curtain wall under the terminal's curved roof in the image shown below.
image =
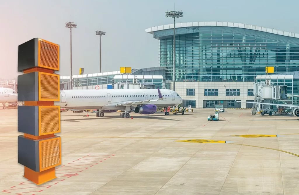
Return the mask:
<svg viewBox="0 0 299 195"><path fill-rule="evenodd" d="M160 66L173 78L173 29L154 31L160 40ZM201 26L176 29L176 81L254 82L265 74L299 70L299 38L263 31Z"/></svg>

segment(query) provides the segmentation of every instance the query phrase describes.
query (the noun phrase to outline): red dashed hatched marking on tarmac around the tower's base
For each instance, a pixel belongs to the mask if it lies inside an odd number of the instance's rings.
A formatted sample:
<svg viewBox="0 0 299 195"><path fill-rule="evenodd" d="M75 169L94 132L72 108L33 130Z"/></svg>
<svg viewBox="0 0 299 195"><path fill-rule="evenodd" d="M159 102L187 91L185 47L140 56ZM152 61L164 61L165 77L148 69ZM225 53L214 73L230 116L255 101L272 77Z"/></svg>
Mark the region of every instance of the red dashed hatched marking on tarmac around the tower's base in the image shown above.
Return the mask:
<svg viewBox="0 0 299 195"><path fill-rule="evenodd" d="M103 162L103 160L100 160L100 159L105 158L105 160L106 160L108 158L111 158L112 156L115 156L115 155L114 154L113 155L101 155L101 156L86 155L86 156L83 156L81 158L85 158L84 160L93 160L93 161L85 161L85 162L81 161L80 164L78 162L75 163L73 161L71 163L68 163L68 164L62 165L60 167L57 167L56 170L60 169L62 167L64 169L57 170L57 171L59 171L59 172L56 172L57 178L47 182L46 183L47 185L38 186L35 183L31 182L29 179L27 179L26 183L21 182L18 185L14 185L14 186L10 187L7 190L3 190L2 192L17 194L17 195L25 195L25 194L32 193L32 192L42 192L45 189L48 189L48 188L52 187L53 185L57 185L59 182L65 181L65 179L60 179L60 177L70 178L70 177L73 177L73 176L78 176L79 175L78 173L83 172L83 170L87 170L89 167L93 167L94 165L99 164L99 162ZM96 157L102 157L102 158L96 158ZM81 160L81 158L78 158L77 160ZM75 160L75 161L77 161L77 160ZM89 164L86 164L86 163L89 163ZM93 164L91 164L91 163L93 163ZM76 164L76 165L72 165L72 164ZM69 168L69 167L72 167L72 168ZM63 172L65 170L72 170L72 171L71 172ZM63 172L63 173L60 173L60 172ZM65 174L65 173L67 173L67 174ZM16 188L17 186L21 187L22 185L26 185L28 187L27 188ZM25 191L24 189L28 189L28 190ZM41 190L39 190L39 189L41 189ZM32 194L32 195L36 195L36 194Z"/></svg>

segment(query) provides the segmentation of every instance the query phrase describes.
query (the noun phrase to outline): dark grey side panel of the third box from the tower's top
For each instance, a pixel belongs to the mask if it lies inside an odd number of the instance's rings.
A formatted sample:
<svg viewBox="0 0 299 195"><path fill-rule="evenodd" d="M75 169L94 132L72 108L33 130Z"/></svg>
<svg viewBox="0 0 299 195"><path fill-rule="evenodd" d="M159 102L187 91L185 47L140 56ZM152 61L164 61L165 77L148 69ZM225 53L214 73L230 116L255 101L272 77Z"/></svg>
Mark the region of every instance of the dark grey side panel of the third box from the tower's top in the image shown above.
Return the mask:
<svg viewBox="0 0 299 195"><path fill-rule="evenodd" d="M18 131L30 135L39 135L38 106L18 107Z"/></svg>

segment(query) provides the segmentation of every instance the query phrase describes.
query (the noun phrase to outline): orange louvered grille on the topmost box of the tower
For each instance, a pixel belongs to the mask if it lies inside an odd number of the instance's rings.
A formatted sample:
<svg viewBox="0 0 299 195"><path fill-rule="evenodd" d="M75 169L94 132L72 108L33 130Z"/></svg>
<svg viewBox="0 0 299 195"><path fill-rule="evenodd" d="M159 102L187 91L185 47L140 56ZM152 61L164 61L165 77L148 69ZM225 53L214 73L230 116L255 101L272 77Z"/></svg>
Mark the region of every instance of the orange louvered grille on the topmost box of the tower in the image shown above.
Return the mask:
<svg viewBox="0 0 299 195"><path fill-rule="evenodd" d="M59 46L39 39L39 66L59 71Z"/></svg>

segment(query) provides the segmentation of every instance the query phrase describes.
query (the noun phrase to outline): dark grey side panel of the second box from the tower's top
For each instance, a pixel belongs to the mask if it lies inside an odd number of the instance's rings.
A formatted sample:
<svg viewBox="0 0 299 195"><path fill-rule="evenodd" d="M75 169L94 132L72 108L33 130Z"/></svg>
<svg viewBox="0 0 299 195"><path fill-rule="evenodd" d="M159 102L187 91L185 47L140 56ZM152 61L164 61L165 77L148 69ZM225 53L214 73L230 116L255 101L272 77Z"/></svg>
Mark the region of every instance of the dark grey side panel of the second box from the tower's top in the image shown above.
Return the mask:
<svg viewBox="0 0 299 195"><path fill-rule="evenodd" d="M38 101L38 72L18 76L18 101Z"/></svg>

